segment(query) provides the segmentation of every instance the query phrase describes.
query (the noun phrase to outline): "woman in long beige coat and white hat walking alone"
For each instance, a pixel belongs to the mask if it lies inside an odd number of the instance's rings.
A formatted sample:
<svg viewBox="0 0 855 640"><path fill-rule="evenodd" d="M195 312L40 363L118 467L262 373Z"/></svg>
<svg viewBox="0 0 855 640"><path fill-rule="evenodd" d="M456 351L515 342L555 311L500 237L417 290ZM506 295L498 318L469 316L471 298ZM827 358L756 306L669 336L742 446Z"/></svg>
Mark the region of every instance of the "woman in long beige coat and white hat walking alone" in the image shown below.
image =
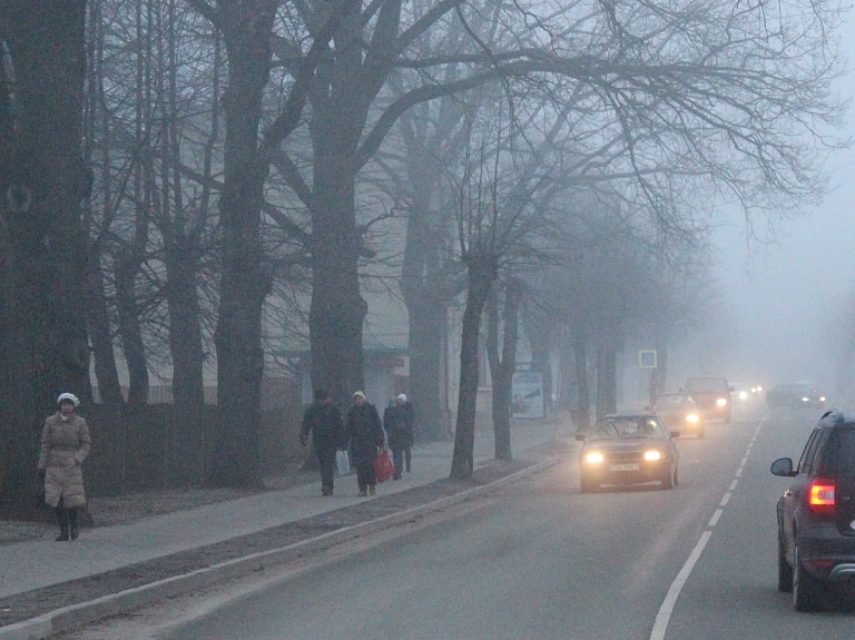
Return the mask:
<svg viewBox="0 0 855 640"><path fill-rule="evenodd" d="M59 411L45 421L41 433L39 475L45 482L45 502L57 512L59 536L77 540L80 508L86 504L80 464L89 454L89 426L77 415L77 396L63 393L57 398Z"/></svg>

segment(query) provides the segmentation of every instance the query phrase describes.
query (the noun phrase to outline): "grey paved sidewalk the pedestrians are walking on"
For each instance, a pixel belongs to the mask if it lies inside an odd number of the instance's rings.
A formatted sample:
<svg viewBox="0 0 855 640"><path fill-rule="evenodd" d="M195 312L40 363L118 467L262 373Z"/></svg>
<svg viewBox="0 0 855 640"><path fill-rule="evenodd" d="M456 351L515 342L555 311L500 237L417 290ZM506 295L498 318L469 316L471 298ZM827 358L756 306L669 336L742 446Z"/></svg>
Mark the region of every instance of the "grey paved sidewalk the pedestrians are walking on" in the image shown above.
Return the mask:
<svg viewBox="0 0 855 640"><path fill-rule="evenodd" d="M568 434L563 424L521 423L512 429L512 451L517 459L524 459L527 450L554 440L567 441ZM479 431L475 437L476 469L493 460L493 447L492 432ZM376 498L446 479L452 451L451 442L415 446L413 472L404 474L401 481L377 485ZM134 524L83 529L75 542L50 540L1 547L0 599L198 549L370 500L356 495L356 479L350 475L336 479L333 498L320 495L318 480L318 483L311 485L198 506Z"/></svg>

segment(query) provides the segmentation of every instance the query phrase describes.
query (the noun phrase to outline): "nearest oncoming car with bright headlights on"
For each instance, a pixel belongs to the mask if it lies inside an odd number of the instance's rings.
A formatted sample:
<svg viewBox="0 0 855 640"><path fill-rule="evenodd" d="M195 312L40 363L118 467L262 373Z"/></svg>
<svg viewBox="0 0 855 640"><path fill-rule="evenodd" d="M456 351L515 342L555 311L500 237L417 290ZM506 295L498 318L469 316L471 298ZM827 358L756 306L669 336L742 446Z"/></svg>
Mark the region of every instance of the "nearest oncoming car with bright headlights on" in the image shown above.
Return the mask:
<svg viewBox="0 0 855 640"><path fill-rule="evenodd" d="M640 484L658 481L662 489L679 483L679 452L659 416L650 413L605 415L577 440L583 493L603 484Z"/></svg>

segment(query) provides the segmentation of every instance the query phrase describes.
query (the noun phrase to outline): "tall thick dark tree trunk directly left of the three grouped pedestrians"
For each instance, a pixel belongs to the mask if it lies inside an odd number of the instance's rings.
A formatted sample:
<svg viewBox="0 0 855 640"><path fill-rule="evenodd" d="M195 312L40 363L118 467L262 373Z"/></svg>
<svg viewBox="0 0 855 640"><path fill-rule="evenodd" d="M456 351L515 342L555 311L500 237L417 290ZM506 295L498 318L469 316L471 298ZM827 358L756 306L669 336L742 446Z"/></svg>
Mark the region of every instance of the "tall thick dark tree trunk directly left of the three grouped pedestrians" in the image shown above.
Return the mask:
<svg viewBox="0 0 855 640"><path fill-rule="evenodd" d="M277 2L220 4L228 52L223 228L217 346L219 441L209 481L262 486L261 390L264 375L262 307L272 287L263 264L259 226L267 159L259 156L262 99L271 71L271 33ZM238 10L239 9L239 10ZM244 30L240 30L243 28Z"/></svg>

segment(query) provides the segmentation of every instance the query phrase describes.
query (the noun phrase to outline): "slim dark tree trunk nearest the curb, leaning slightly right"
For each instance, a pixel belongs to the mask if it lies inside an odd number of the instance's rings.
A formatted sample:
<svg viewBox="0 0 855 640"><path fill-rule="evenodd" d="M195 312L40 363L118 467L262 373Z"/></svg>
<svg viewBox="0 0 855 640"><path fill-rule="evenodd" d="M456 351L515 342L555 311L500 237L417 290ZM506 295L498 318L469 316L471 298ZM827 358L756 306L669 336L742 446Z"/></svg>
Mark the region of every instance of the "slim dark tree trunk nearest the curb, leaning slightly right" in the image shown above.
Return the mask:
<svg viewBox="0 0 855 640"><path fill-rule="evenodd" d="M475 403L479 380L479 333L481 313L484 309L490 287L495 280L498 267L491 256L471 255L466 259L469 288L463 311L463 327L460 346L460 394L458 396L458 422L454 433L454 452L451 459L452 480L472 477L475 445Z"/></svg>

